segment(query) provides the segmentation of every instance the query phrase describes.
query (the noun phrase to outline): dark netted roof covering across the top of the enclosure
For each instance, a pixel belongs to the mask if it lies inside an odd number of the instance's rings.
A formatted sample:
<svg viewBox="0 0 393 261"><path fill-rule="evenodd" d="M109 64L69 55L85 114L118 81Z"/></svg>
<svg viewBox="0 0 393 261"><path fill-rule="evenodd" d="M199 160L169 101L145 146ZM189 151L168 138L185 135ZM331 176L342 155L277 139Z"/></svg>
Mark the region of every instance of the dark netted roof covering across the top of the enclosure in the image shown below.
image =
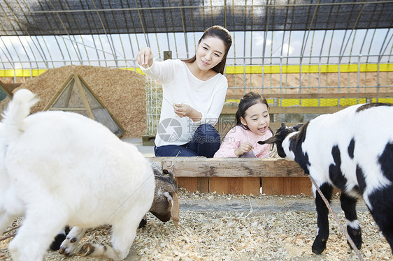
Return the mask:
<svg viewBox="0 0 393 261"><path fill-rule="evenodd" d="M5 0L1 36L391 28L393 1Z"/></svg>

